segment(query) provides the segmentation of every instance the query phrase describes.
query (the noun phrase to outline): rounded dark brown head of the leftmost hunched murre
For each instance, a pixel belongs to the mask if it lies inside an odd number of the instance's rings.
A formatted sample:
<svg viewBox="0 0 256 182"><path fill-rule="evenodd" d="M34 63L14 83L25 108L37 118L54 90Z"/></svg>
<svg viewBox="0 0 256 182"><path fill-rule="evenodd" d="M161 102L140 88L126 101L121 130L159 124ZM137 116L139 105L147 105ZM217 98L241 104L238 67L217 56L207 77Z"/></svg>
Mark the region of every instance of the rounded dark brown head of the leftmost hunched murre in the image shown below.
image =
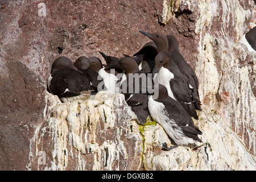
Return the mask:
<svg viewBox="0 0 256 182"><path fill-rule="evenodd" d="M61 56L53 62L51 73L61 69L76 69L76 67L68 57Z"/></svg>

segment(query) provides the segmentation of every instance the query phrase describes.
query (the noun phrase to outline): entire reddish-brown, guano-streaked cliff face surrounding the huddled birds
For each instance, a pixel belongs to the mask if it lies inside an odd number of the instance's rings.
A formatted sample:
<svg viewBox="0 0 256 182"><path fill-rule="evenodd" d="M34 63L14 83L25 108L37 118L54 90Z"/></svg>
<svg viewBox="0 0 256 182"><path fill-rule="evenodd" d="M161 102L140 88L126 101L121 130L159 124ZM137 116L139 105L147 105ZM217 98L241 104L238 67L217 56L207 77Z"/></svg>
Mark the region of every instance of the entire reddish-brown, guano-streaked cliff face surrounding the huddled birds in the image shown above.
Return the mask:
<svg viewBox="0 0 256 182"><path fill-rule="evenodd" d="M239 42L254 1L1 1L0 169L255 170L256 53ZM158 123L138 125L122 94L62 104L46 91L58 56L133 55L174 34L195 69L203 111L197 150L162 151Z"/></svg>

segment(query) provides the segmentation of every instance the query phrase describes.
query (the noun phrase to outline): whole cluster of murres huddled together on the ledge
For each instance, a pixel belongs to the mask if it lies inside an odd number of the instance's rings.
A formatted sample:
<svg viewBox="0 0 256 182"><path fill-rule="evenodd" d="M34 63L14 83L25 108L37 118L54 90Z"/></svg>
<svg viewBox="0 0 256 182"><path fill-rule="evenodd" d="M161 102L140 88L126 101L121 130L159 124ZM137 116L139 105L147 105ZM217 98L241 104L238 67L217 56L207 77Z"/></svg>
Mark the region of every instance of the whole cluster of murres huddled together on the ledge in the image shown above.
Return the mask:
<svg viewBox="0 0 256 182"><path fill-rule="evenodd" d="M198 119L196 110L201 110L196 74L180 54L175 36L140 32L152 42L133 57L119 59L100 52L106 65L98 57L81 56L75 63L58 57L52 64L48 91L62 102L86 100L101 90L123 93L139 124L144 125L150 115L176 143L172 147L163 143L163 150L195 147L195 141L202 142L198 137L202 132L191 118Z"/></svg>

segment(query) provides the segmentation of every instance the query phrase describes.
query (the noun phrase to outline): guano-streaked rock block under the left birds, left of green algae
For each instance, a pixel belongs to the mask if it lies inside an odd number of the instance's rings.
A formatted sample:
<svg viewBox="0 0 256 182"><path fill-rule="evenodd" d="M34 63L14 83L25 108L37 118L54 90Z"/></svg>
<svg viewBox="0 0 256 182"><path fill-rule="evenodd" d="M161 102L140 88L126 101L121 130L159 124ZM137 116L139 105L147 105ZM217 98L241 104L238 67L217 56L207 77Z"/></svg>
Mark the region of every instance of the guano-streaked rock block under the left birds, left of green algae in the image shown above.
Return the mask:
<svg viewBox="0 0 256 182"><path fill-rule="evenodd" d="M31 169L138 170L141 167L142 136L134 121L136 116L122 94L102 91L87 101L47 106L46 113L31 139ZM39 151L47 151L48 157L44 164L36 166L42 160Z"/></svg>

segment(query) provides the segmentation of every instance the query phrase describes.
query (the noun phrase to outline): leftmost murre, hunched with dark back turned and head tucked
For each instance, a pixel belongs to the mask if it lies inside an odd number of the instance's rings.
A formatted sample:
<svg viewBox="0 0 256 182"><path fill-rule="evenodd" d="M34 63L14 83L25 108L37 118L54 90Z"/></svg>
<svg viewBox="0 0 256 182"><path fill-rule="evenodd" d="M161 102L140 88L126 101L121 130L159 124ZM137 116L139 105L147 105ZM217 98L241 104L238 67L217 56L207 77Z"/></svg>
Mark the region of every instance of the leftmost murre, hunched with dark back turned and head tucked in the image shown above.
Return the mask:
<svg viewBox="0 0 256 182"><path fill-rule="evenodd" d="M48 90L57 95L62 102L85 100L93 90L90 81L76 69L68 57L58 57L52 64L51 75L48 78Z"/></svg>

